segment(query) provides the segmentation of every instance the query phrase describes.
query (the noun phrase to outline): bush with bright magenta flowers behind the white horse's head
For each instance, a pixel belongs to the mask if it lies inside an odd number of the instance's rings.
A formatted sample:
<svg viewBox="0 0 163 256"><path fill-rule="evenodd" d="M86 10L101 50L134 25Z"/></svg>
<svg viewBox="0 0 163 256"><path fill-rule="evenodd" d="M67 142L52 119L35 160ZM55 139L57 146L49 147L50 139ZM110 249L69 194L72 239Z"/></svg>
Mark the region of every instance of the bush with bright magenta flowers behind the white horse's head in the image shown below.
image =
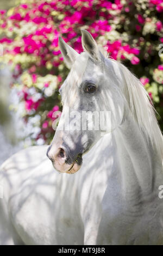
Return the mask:
<svg viewBox="0 0 163 256"><path fill-rule="evenodd" d="M22 0L17 7L0 11L1 58L12 65L12 86L24 102L23 118L28 122L39 117L34 143L39 138L51 141L52 115L61 109L58 88L68 70L58 36L80 53L80 28L87 29L111 58L121 60L140 78L162 114L162 13L163 0Z"/></svg>

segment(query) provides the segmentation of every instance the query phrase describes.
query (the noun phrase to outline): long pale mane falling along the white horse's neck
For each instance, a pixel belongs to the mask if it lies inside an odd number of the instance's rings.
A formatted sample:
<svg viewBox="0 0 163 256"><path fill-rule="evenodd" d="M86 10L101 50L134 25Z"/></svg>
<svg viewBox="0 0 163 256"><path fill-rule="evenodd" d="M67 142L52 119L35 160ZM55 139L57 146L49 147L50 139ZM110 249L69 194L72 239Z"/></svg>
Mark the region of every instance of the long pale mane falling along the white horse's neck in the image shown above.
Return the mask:
<svg viewBox="0 0 163 256"><path fill-rule="evenodd" d="M119 65L124 81L124 95L128 102L131 115L137 121L140 130L145 134L148 141L160 152L163 158L163 137L155 116L155 108L146 89L140 80L133 75L122 63L110 59Z"/></svg>

